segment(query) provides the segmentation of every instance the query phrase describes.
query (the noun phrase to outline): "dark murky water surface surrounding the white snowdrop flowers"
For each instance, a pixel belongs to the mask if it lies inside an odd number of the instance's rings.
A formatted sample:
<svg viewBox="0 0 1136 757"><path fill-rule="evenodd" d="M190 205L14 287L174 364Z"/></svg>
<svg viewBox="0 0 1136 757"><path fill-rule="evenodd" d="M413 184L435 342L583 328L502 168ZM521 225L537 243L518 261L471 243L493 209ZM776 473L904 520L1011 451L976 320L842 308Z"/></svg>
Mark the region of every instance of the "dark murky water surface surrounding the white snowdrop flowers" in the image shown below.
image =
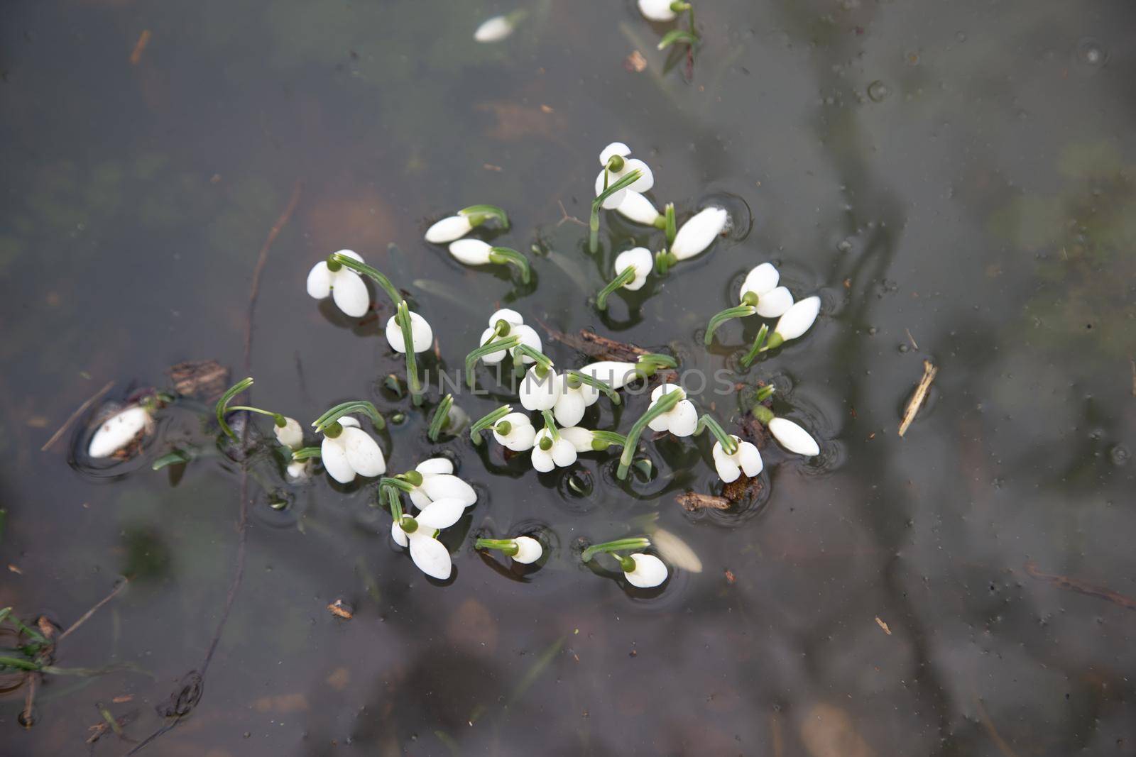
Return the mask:
<svg viewBox="0 0 1136 757"><path fill-rule="evenodd" d="M495 44L473 40L494 11L468 3L2 12L0 550L15 570L0 607L74 617L109 577L145 579L58 662L114 654L158 678L45 676L30 731L24 692L6 695L14 754L84 749L95 703L137 713L126 735L144 738L170 692L192 720L149 754L1136 743L1129 3L1044 0L1012 16L977 2L709 3L690 83L682 65L663 73L666 30L630 2L542 5ZM642 70L623 65L633 51ZM675 200L686 218L712 200L735 225L600 314L588 297L610 279L612 241L651 239L609 213L601 251L585 252L575 221L609 138L666 176L657 207ZM110 379L162 386L184 360L239 364L248 277L298 179L260 281L259 399L300 419L360 394L404 412L381 438L392 470L453 449L479 502L446 536L460 577L440 584L386 546L366 486L291 487L282 461L250 461L247 571L202 687L183 676L209 659L241 505L235 449L211 444L208 409L166 407L137 454L106 469L83 460L85 430L67 453L39 448ZM509 209L501 239L529 254L538 287L421 242L426 218L470 202ZM611 455L538 477L494 444L434 445L428 414L382 388L402 376L376 337L387 305L350 319L298 289L344 246L410 289L451 360L512 303L558 331L735 370L741 390L694 397L727 428L744 422L749 387L772 381L776 412L821 454L767 446L752 501L691 515L677 495L720 491L705 440L649 441L625 482ZM733 304L730 277L767 260L795 296L820 294L821 320L808 344L738 371L757 325L724 327L709 351L700 329ZM582 361L545 346L558 365ZM900 439L925 358L942 371ZM479 418L502 398L456 401ZM627 418L596 406L583 424L626 424L645 404L629 395ZM172 449L190 462L149 470ZM470 547L529 528L548 557L521 573ZM579 563L580 539L654 529L702 571L674 565L648 596L609 563L604 578ZM351 620L325 609L341 596ZM93 747L132 748L112 733Z"/></svg>

